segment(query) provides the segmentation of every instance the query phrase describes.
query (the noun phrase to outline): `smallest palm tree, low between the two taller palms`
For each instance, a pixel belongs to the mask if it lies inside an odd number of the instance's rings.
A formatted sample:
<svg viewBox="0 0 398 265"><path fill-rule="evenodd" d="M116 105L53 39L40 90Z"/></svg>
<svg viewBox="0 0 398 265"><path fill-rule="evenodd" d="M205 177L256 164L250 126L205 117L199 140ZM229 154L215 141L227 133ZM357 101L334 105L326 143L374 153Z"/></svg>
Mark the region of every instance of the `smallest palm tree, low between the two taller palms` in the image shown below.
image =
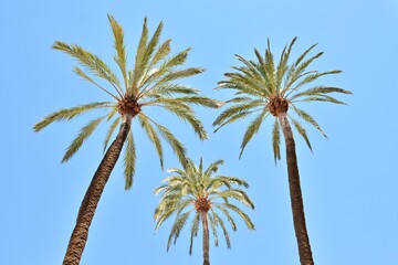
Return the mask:
<svg viewBox="0 0 398 265"><path fill-rule="evenodd" d="M230 223L233 231L237 224L231 212L240 215L249 230L254 230L250 218L229 200L234 199L245 206L254 209L254 204L245 191L233 186L249 188L249 184L239 178L216 174L223 160L212 162L203 170L203 161L200 159L199 167L189 160L184 169L171 168L168 172L172 176L165 178L165 184L155 190L155 194L161 193L160 202L155 210L156 230L172 214L176 214L170 235L167 242L167 251L171 242L176 244L179 234L192 213L193 220L190 227L189 254L192 254L193 237L198 235L199 222L203 230L203 265L210 264L209 246L209 223L214 237L214 245L218 246L217 227L221 226L227 246L231 247L231 242L227 226L220 216L221 212Z"/></svg>

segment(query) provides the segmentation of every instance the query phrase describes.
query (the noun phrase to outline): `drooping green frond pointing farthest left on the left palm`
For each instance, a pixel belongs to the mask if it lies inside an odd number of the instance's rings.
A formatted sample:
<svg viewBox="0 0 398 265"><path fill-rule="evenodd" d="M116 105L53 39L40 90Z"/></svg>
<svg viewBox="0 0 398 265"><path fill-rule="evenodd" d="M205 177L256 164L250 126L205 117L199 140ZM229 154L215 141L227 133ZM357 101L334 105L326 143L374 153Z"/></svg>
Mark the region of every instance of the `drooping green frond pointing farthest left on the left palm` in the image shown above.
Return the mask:
<svg viewBox="0 0 398 265"><path fill-rule="evenodd" d="M100 102L100 103L91 103L86 105L78 105L77 107L72 107L72 108L63 108L61 110L57 110L55 113L45 116L42 120L40 120L33 126L33 130L38 132L44 129L50 124L52 124L53 121L71 120L74 117L77 117L78 115L82 115L90 110L97 108L107 108L111 105L112 105L111 102Z"/></svg>

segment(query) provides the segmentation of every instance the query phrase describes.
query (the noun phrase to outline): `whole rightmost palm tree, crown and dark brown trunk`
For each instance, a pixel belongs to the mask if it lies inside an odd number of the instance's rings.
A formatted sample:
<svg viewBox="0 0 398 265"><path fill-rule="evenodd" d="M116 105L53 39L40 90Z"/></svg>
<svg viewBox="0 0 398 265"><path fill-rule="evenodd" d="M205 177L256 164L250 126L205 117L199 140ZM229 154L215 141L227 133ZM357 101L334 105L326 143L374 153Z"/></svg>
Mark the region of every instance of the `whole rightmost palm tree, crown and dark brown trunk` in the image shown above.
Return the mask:
<svg viewBox="0 0 398 265"><path fill-rule="evenodd" d="M240 55L235 55L243 65L232 67L234 70L233 73L226 73L224 75L227 80L219 82L218 88L234 89L237 96L227 102L231 105L217 117L213 125L218 126L216 129L217 131L227 124L245 118L252 114L256 115L250 123L243 136L240 151L241 157L248 142L259 131L263 120L265 120L265 118L270 115L275 118L272 129L274 160L276 162L276 160L281 159L280 144L282 129L286 147L289 187L300 261L301 264L314 264L305 225L295 142L289 119L293 123L298 135L304 138L308 148L312 149L312 147L305 128L295 118L287 114L287 110L292 109L296 116L313 125L326 137L315 119L306 112L300 109L297 105L302 102L328 102L344 104L329 94L352 93L338 87L324 85L313 85L308 87L307 85L317 81L321 76L338 74L341 71L318 72L307 70L310 64L323 54L323 52L320 52L311 57L307 57L308 53L316 46L316 44L310 46L302 55L290 63L290 54L295 41L296 38L294 38L292 42L283 49L277 64L274 62L274 56L270 47L270 41L268 42L264 56L254 49L256 57L254 61L245 60Z"/></svg>

